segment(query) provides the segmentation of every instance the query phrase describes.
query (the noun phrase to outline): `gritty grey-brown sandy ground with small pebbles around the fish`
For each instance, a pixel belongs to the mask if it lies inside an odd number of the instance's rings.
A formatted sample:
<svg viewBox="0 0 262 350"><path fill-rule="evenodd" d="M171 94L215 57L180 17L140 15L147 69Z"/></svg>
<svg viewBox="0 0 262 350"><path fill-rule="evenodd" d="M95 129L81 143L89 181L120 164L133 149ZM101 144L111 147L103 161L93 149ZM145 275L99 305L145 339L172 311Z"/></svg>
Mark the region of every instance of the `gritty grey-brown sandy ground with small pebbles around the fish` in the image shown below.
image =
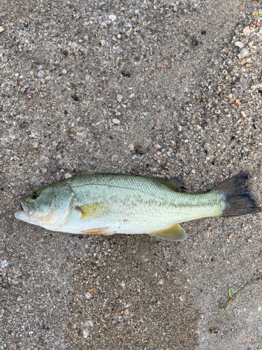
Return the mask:
<svg viewBox="0 0 262 350"><path fill-rule="evenodd" d="M20 197L90 172L241 170L261 204L259 1L0 3L0 349L262 349L261 214L184 242L17 221ZM261 24L261 27L260 27Z"/></svg>

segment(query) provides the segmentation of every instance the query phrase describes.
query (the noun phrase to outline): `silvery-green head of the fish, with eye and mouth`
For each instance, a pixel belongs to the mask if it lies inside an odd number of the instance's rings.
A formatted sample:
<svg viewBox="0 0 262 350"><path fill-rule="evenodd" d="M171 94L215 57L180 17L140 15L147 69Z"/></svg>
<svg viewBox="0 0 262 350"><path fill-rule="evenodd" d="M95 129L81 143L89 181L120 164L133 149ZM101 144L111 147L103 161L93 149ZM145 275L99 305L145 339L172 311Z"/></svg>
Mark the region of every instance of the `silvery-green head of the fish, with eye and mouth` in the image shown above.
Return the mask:
<svg viewBox="0 0 262 350"><path fill-rule="evenodd" d="M23 197L22 210L15 211L15 218L48 230L63 225L73 209L75 195L68 186L54 185L38 188Z"/></svg>

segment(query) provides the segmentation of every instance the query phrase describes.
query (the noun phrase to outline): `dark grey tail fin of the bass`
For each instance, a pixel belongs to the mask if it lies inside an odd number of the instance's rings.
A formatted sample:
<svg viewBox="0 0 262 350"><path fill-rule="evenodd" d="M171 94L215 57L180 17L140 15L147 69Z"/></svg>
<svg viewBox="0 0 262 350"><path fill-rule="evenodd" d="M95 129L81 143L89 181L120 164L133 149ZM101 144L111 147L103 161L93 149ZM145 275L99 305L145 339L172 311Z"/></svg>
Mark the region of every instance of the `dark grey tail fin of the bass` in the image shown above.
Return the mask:
<svg viewBox="0 0 262 350"><path fill-rule="evenodd" d="M226 206L220 215L222 217L254 214L261 211L249 193L249 174L247 172L220 183L212 190L224 195L226 200Z"/></svg>

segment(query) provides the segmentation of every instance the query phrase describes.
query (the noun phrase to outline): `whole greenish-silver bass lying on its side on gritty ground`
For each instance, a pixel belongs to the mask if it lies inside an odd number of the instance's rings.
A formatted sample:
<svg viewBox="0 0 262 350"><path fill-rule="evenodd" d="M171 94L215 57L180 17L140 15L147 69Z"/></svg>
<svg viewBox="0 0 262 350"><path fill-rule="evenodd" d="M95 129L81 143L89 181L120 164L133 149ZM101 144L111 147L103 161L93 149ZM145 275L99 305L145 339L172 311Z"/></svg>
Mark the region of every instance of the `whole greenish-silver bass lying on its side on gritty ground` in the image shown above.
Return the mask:
<svg viewBox="0 0 262 350"><path fill-rule="evenodd" d="M87 174L64 179L21 200L15 218L47 230L87 235L148 234L184 241L180 223L261 211L242 172L204 193L185 193L175 178Z"/></svg>

